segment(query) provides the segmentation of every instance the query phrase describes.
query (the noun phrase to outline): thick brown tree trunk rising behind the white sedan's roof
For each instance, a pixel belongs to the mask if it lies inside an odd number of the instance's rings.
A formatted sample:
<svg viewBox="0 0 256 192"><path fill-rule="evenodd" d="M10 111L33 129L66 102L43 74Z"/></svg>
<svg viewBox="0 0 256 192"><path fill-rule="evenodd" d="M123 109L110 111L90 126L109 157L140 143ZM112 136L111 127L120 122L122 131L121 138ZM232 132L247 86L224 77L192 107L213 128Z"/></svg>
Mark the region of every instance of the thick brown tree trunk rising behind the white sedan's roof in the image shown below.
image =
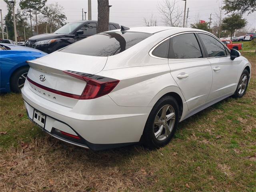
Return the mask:
<svg viewBox="0 0 256 192"><path fill-rule="evenodd" d="M108 31L109 6L108 0L98 0L98 27L97 33Z"/></svg>

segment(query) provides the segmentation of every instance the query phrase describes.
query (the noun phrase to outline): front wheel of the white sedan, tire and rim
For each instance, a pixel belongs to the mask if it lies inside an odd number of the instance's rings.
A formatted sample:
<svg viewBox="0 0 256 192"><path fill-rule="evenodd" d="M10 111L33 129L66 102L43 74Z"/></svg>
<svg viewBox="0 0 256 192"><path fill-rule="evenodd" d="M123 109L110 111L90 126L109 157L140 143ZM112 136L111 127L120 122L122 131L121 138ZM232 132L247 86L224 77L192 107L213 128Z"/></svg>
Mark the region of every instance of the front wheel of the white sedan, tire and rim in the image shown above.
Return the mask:
<svg viewBox="0 0 256 192"><path fill-rule="evenodd" d="M241 98L244 96L247 90L248 82L249 82L249 72L248 70L244 69L242 75L239 78L239 82L236 88L236 91L233 95L234 98Z"/></svg>

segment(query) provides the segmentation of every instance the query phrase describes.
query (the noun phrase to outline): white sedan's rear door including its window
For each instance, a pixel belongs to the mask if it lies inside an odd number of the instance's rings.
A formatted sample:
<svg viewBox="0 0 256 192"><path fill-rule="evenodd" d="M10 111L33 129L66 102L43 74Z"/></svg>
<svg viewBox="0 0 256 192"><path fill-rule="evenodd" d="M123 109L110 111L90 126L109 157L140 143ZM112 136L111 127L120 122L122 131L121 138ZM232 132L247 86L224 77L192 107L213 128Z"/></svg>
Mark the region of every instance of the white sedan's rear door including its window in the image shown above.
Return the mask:
<svg viewBox="0 0 256 192"><path fill-rule="evenodd" d="M212 85L212 68L193 32L171 36L168 64L188 109L203 105Z"/></svg>

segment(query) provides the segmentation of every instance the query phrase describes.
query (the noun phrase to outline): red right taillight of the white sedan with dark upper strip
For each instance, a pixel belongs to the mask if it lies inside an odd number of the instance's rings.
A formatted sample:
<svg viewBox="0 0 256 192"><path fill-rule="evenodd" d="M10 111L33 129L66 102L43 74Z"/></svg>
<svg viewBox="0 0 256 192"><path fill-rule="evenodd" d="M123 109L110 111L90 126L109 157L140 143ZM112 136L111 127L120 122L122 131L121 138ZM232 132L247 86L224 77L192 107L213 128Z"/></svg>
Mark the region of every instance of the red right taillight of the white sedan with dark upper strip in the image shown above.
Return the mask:
<svg viewBox="0 0 256 192"><path fill-rule="evenodd" d="M69 76L86 82L84 91L79 97L80 100L94 99L109 94L119 83L119 80L99 75L87 74L70 70L65 70L63 72L68 74Z"/></svg>

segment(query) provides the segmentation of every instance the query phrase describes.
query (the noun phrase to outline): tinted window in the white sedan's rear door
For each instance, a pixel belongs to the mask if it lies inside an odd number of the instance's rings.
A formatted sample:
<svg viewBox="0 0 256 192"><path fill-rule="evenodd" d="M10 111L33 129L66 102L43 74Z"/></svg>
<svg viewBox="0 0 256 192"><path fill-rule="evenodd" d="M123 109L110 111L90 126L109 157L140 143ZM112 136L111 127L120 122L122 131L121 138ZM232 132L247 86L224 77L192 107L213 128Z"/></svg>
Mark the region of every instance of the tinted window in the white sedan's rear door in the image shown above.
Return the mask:
<svg viewBox="0 0 256 192"><path fill-rule="evenodd" d="M169 58L202 58L202 52L194 33L181 34L170 38Z"/></svg>

